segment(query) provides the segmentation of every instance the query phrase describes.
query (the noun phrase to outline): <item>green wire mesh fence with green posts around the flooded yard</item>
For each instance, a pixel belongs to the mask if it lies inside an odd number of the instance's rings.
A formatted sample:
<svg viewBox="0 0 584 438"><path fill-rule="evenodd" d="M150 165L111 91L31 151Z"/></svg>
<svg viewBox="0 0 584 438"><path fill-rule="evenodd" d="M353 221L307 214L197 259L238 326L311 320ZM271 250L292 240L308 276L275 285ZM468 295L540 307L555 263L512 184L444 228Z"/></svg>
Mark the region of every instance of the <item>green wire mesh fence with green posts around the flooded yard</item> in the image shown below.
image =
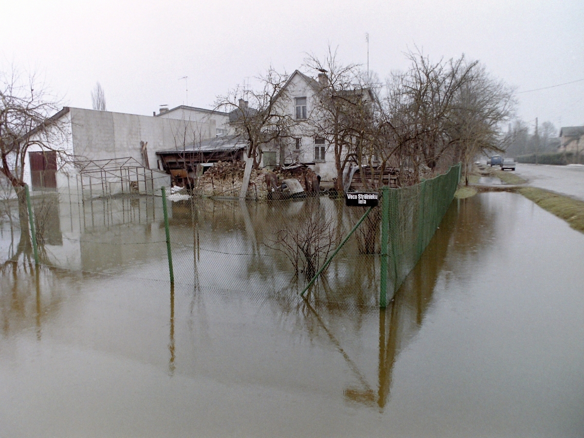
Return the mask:
<svg viewBox="0 0 584 438"><path fill-rule="evenodd" d="M390 190L388 296L419 259L458 182L458 167L417 186ZM138 186L136 186L138 187ZM130 187L131 188L131 187ZM135 188L135 187L134 187ZM140 187L138 187L138 190ZM40 265L85 275L169 283L160 189L100 196L31 190ZM298 293L365 208L326 194L283 201L205 199L167 188L174 281L192 293L280 304ZM26 208L6 189L0 200L0 263L34 266ZM311 287L311 300L379 304L381 208L374 208Z"/></svg>

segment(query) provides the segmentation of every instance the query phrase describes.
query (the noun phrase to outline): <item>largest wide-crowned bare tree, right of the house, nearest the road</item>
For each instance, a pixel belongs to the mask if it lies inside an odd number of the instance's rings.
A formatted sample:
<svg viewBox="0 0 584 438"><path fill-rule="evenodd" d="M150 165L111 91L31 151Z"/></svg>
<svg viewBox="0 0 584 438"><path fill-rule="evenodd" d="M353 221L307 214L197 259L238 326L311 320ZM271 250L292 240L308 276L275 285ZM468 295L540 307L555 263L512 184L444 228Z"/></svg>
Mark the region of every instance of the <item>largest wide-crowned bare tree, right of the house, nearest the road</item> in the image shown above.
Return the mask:
<svg viewBox="0 0 584 438"><path fill-rule="evenodd" d="M386 84L384 157L412 169L411 183L417 183L422 169L434 173L457 161L468 164L480 151L502 151L501 128L515 106L512 89L464 55L437 62L420 51L406 56L409 69L393 72Z"/></svg>

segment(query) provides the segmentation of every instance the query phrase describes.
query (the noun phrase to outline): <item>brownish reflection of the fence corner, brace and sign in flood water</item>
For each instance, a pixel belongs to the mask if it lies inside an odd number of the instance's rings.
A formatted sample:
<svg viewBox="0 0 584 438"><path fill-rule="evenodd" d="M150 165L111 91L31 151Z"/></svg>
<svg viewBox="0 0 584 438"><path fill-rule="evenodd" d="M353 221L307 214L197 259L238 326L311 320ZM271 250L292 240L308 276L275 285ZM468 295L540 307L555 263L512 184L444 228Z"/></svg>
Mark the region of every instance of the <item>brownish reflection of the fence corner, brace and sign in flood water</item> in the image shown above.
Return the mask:
<svg viewBox="0 0 584 438"><path fill-rule="evenodd" d="M433 301L433 291L437 278L442 272L447 251L465 256L467 253L485 251L486 246L492 244L491 234L495 218L493 212L488 211L484 204L477 199L457 200L451 204L440 228L422 254L418 264L406 277L394 299L387 309L379 310L379 346L378 346L378 384L377 394L370 388L370 384L363 380L363 373L359 371L354 361L347 356L338 340L325 328L326 333L335 347L342 353L350 369L361 382L360 388L347 387L343 394L347 399L365 405L377 405L381 411L387 404L392 382L392 371L399 351L404 349L409 339L422 326L427 309ZM455 245L456 244L456 245ZM374 266L371 263L370 266ZM338 308L335 303L319 303L321 312L331 312ZM312 309L312 307L311 307ZM314 310L313 310L314 311ZM316 314L316 311L314 311ZM367 312L367 308L354 307L350 317L362 318L356 312ZM348 315L343 315L347 317ZM322 318L318 321L325 327Z"/></svg>

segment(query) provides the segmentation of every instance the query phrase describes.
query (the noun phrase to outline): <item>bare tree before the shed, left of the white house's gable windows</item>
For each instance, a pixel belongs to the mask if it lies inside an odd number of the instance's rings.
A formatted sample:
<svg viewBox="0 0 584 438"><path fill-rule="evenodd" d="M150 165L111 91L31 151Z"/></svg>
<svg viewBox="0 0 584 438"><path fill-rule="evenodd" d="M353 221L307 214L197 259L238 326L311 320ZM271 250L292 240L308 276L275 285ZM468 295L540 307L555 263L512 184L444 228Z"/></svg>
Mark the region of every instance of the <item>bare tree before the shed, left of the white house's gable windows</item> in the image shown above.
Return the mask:
<svg viewBox="0 0 584 438"><path fill-rule="evenodd" d="M215 108L230 114L230 123L235 134L248 142L247 155L253 158L257 169L265 147L276 147L277 142L291 138L291 130L297 121L287 110L291 102L284 87L288 75L276 72L270 67L266 74L257 78L260 87L251 90L237 86L218 96Z"/></svg>

